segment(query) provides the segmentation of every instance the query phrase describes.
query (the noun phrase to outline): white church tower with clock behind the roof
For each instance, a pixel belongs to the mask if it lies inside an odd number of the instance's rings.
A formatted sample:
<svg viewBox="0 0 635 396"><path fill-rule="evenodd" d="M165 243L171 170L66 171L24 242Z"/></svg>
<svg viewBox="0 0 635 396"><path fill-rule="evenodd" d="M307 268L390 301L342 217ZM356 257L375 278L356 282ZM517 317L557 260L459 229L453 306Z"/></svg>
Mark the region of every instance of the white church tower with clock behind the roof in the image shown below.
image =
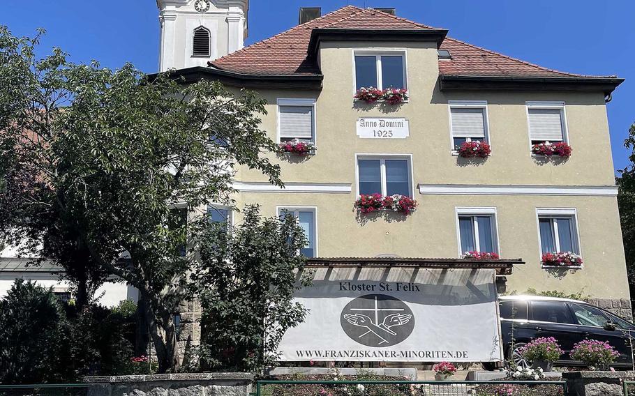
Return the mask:
<svg viewBox="0 0 635 396"><path fill-rule="evenodd" d="M156 0L161 24L159 70L207 66L240 50L249 0Z"/></svg>

